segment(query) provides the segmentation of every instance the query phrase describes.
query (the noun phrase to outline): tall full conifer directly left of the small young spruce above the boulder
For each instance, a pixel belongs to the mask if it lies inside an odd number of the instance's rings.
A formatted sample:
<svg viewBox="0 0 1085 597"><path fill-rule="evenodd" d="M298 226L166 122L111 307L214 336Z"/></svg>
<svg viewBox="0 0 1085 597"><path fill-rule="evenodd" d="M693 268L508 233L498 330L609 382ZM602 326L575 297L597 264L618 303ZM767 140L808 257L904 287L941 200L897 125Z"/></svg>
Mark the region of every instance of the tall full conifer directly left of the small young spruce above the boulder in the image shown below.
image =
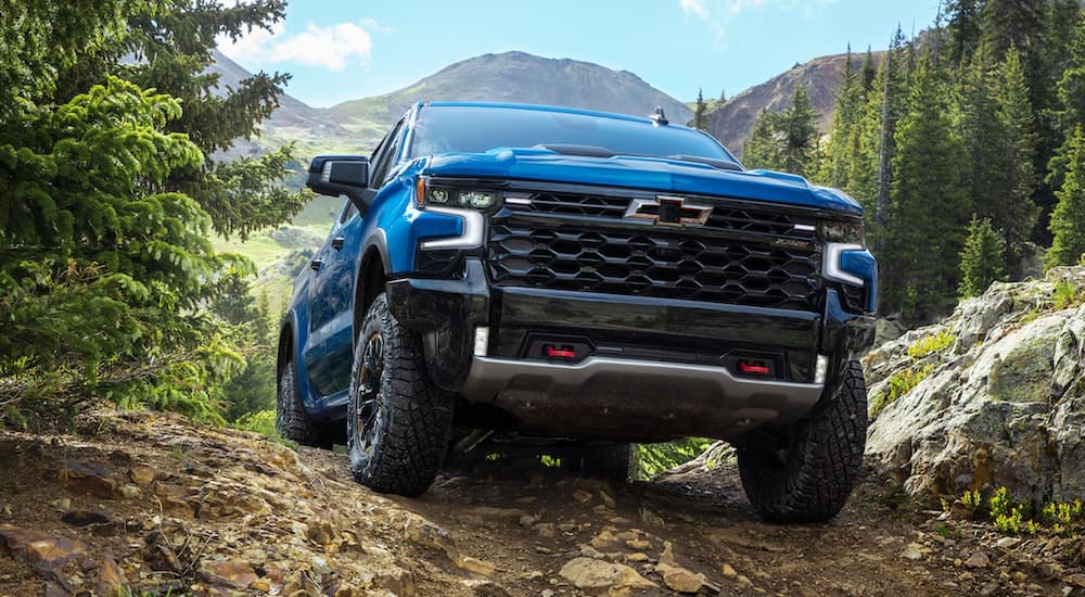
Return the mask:
<svg viewBox="0 0 1085 597"><path fill-rule="evenodd" d="M970 208L961 185L965 150L950 114L944 74L923 56L894 134L892 208L880 255L885 304L909 319L942 309L958 285Z"/></svg>

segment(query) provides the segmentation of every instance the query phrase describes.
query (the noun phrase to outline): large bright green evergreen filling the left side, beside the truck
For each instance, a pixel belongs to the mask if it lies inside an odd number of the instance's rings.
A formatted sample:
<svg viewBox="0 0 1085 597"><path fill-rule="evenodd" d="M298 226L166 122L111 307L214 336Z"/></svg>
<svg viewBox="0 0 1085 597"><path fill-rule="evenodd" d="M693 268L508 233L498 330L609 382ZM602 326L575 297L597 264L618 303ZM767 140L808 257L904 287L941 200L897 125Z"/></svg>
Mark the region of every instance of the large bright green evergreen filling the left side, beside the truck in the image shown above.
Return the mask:
<svg viewBox="0 0 1085 597"><path fill-rule="evenodd" d="M281 8L16 0L0 11L8 406L48 411L97 395L222 420L222 384L245 360L206 310L235 263L207 234L278 223L304 198L278 190L283 152L207 157L254 130L284 79L216 96L200 73L217 35L270 27Z"/></svg>

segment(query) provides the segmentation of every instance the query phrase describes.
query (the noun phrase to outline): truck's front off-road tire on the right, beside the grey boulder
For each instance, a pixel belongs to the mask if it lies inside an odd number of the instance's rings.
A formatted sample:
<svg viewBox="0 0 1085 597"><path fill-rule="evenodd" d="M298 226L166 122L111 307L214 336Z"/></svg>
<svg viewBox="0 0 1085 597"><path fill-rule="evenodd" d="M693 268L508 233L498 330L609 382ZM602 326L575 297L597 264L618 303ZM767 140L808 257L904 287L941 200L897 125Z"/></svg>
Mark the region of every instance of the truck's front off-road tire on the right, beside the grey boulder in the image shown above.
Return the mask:
<svg viewBox="0 0 1085 597"><path fill-rule="evenodd" d="M805 419L780 429L780 449L736 446L742 487L771 522L824 522L859 480L867 437L867 390L858 361Z"/></svg>

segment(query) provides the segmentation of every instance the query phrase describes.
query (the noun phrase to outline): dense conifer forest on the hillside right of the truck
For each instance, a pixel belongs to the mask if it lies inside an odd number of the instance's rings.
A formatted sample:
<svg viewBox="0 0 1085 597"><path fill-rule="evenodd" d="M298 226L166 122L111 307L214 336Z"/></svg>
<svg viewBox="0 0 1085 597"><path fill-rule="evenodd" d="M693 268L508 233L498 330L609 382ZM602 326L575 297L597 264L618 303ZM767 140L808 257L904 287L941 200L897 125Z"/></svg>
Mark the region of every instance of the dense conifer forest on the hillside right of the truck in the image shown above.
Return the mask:
<svg viewBox="0 0 1085 597"><path fill-rule="evenodd" d="M944 2L929 29L897 29L880 56L848 48L831 130L815 118L796 87L790 107L761 114L743 163L864 205L881 315L929 322L993 281L1085 253L1076 0Z"/></svg>

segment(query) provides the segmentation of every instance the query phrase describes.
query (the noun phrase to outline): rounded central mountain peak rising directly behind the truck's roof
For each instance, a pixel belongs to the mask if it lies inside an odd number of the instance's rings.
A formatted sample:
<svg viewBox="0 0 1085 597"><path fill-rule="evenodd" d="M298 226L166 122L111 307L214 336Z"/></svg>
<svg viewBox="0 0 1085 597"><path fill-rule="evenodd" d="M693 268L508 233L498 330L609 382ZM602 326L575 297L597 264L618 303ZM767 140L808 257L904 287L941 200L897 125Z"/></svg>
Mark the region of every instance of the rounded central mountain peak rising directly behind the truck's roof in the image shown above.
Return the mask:
<svg viewBox="0 0 1085 597"><path fill-rule="evenodd" d="M524 52L485 54L457 62L418 82L374 98L330 109L343 126L362 135L383 135L419 100L465 100L553 104L647 116L662 106L675 123L693 117L678 100L628 71Z"/></svg>

